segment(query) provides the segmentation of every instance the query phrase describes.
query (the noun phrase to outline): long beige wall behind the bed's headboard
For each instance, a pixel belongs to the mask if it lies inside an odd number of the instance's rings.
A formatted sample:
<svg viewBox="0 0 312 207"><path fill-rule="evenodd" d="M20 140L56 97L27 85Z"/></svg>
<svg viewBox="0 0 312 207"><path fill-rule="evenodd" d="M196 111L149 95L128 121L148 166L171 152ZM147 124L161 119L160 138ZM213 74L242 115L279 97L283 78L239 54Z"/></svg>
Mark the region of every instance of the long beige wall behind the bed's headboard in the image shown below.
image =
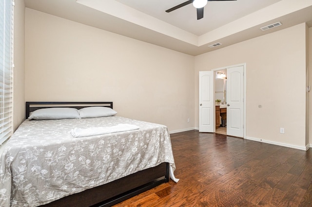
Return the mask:
<svg viewBox="0 0 312 207"><path fill-rule="evenodd" d="M113 101L119 116L194 127L193 56L25 13L26 101Z"/></svg>

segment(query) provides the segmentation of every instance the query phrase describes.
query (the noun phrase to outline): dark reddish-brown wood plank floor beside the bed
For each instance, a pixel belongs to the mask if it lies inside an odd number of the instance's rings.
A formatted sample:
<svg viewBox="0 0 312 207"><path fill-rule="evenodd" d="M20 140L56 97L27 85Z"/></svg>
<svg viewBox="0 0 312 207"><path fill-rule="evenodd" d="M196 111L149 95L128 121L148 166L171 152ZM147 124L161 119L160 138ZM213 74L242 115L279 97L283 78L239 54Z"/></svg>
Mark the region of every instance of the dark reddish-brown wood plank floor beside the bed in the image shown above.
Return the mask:
<svg viewBox="0 0 312 207"><path fill-rule="evenodd" d="M116 207L312 207L312 150L196 130L171 135L170 180Z"/></svg>

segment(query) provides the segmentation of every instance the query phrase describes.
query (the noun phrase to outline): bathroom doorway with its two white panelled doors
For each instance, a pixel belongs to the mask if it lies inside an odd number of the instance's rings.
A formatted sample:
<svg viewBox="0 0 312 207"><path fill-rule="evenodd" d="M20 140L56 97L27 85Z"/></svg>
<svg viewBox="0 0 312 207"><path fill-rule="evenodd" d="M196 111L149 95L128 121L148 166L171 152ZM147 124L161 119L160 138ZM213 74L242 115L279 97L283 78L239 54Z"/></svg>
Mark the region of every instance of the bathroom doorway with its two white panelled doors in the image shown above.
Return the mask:
<svg viewBox="0 0 312 207"><path fill-rule="evenodd" d="M199 72L199 131L216 132L216 124L222 124L222 118L216 109L215 74L226 70L226 89L221 103L226 104L226 134L234 137L246 137L246 67L245 64ZM216 72L216 73L215 73ZM213 82L213 83L212 83ZM219 91L220 92L220 91ZM222 93L220 93L222 94ZM220 94L218 94L220 96ZM224 105L223 105L224 106ZM223 113L225 109L222 109ZM219 111L220 112L220 111Z"/></svg>

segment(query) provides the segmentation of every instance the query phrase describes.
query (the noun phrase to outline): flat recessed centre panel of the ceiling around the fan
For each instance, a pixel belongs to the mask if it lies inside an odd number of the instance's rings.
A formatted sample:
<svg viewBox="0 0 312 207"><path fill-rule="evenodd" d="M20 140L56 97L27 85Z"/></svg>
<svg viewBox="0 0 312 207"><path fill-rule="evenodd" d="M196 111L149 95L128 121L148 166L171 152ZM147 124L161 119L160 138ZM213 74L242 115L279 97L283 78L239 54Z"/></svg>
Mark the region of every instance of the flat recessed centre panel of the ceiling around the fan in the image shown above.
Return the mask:
<svg viewBox="0 0 312 207"><path fill-rule="evenodd" d="M200 36L231 21L249 15L280 0L209 1L204 7L204 18L197 20L196 8L186 5L173 12L165 10L186 0L116 0L137 11L148 14L182 30Z"/></svg>

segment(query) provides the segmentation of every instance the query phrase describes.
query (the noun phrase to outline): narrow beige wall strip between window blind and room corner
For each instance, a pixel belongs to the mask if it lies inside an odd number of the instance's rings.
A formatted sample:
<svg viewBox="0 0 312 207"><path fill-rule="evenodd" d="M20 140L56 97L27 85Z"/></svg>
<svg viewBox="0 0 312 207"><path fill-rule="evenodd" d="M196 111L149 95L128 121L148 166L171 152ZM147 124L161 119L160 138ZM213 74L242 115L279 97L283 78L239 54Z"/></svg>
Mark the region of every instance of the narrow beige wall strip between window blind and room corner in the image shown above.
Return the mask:
<svg viewBox="0 0 312 207"><path fill-rule="evenodd" d="M14 130L25 119L25 4L15 1L14 7Z"/></svg>

